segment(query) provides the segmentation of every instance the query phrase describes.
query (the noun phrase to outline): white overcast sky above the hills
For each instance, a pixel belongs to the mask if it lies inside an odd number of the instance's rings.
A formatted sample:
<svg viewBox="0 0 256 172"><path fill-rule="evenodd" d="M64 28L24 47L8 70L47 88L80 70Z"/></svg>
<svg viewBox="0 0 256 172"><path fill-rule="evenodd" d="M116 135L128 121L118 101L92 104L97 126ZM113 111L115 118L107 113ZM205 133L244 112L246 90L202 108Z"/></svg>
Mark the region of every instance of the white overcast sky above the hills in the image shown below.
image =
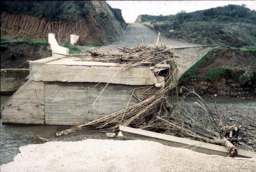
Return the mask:
<svg viewBox="0 0 256 172"><path fill-rule="evenodd" d="M193 12L229 4L245 4L247 8L256 10L256 1L107 1L113 8L122 10L127 23L134 22L138 15L171 15L185 10Z"/></svg>

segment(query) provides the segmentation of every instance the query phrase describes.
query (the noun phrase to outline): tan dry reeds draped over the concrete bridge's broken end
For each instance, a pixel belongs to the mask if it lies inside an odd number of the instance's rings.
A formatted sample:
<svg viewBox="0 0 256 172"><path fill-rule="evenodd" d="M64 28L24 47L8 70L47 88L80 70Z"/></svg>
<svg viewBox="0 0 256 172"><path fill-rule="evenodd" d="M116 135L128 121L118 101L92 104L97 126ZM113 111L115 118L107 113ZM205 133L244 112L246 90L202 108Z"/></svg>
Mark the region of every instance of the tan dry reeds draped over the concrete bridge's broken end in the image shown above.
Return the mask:
<svg viewBox="0 0 256 172"><path fill-rule="evenodd" d="M119 63L121 66L119 71L127 70L131 67L154 67L160 64L167 64L170 65L168 70L157 73L158 76L163 76L165 78L164 87L148 99L143 100L138 104L129 107L127 105L126 109L112 113L92 122L58 132L57 135L66 135L76 131L81 131L82 128L86 128L87 126L92 126L94 129L104 129L108 132L118 130L119 125L141 129L147 128L154 131L156 128L155 120L158 120L156 116L163 116L163 113L167 113L165 106L167 103L168 92L169 89L176 87L178 78L178 63L174 58L174 51L172 49L168 49L166 46L147 46L144 44L139 44L133 48L121 47L118 49L121 50L121 53L118 55L111 55L108 53L99 54L98 52L93 52L90 58L80 57L80 60ZM132 96L133 95L131 95L131 97Z"/></svg>

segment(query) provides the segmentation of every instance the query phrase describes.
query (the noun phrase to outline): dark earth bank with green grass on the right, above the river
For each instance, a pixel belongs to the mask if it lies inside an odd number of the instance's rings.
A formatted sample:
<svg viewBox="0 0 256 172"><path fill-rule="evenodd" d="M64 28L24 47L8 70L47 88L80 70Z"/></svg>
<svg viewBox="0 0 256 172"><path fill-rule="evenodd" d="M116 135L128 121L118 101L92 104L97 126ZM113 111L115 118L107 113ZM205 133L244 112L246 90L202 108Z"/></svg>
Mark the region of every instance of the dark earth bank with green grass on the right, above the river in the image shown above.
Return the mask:
<svg viewBox="0 0 256 172"><path fill-rule="evenodd" d="M216 49L180 78L180 85L200 94L255 96L256 51Z"/></svg>

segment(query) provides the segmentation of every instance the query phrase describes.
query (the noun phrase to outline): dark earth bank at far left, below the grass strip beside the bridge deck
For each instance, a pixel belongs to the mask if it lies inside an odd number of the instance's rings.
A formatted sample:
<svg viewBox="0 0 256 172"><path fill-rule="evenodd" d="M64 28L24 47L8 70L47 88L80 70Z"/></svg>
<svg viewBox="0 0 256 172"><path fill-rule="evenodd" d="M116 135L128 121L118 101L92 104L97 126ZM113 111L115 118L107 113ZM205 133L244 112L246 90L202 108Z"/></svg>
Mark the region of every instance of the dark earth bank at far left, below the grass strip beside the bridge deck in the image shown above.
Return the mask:
<svg viewBox="0 0 256 172"><path fill-rule="evenodd" d="M50 45L1 43L1 69L29 68L27 60L38 60L51 56Z"/></svg>

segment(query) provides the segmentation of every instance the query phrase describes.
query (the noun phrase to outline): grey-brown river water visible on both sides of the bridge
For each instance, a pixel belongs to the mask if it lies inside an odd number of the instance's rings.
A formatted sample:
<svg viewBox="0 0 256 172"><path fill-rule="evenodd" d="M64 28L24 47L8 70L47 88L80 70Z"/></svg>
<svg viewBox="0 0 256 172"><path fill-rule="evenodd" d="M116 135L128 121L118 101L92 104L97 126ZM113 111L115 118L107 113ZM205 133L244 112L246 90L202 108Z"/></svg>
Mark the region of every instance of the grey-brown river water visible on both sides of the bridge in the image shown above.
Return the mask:
<svg viewBox="0 0 256 172"><path fill-rule="evenodd" d="M10 96L1 95L1 105ZM211 97L203 97L209 106L213 106ZM234 98L214 98L217 107L233 107L233 108L246 108L256 110L255 100L242 100ZM176 102L176 100L173 100ZM193 103L196 97L188 97L186 102ZM39 137L53 138L55 133L63 129L70 128L70 126L43 126L43 125L2 125L0 121L0 164L13 161L14 157L19 152L20 146L29 144L42 143ZM83 134L104 135L99 131L87 131ZM66 136L67 137L67 136Z"/></svg>

